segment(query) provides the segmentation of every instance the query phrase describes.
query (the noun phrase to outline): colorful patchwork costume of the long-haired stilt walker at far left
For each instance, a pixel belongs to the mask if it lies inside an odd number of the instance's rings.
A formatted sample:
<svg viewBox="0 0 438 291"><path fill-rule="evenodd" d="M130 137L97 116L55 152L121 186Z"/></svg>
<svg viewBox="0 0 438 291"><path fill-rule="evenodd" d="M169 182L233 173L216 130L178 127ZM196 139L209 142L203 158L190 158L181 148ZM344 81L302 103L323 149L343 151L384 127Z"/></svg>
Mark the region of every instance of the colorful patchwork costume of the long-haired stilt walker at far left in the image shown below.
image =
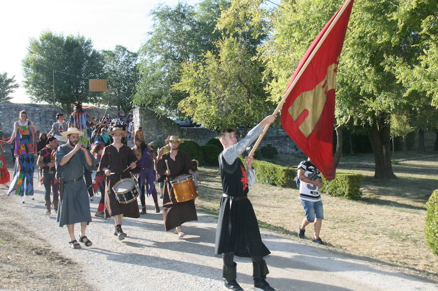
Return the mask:
<svg viewBox="0 0 438 291"><path fill-rule="evenodd" d="M24 126L20 125L19 121L14 123L16 133L14 154L18 159L8 191L8 194L11 194L15 189L15 194L20 196L34 195L34 164L37 153L37 140L31 127L32 122L27 120L24 124Z"/></svg>

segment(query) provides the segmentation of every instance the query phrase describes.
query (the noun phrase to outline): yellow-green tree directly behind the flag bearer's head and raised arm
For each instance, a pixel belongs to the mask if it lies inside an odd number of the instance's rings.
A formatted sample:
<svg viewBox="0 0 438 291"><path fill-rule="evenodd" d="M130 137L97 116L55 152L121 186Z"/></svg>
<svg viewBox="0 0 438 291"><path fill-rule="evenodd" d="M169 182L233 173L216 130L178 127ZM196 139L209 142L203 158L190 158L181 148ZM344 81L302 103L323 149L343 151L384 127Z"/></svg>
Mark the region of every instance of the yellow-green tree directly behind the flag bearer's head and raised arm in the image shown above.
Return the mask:
<svg viewBox="0 0 438 291"><path fill-rule="evenodd" d="M247 48L233 37L217 45L218 55L208 51L203 55L205 60L183 65L181 82L174 87L188 97L179 107L206 128L243 126L241 135L246 135L247 128L274 106L266 101L260 64L251 60Z"/></svg>

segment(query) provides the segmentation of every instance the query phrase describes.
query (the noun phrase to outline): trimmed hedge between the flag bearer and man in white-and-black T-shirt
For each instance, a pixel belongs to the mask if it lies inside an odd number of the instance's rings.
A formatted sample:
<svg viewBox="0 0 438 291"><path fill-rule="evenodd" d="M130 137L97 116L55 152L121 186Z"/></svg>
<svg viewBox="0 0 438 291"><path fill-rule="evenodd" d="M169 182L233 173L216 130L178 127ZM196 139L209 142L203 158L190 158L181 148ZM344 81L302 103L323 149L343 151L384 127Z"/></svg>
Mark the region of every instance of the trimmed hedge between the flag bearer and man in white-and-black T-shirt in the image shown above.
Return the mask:
<svg viewBox="0 0 438 291"><path fill-rule="evenodd" d="M245 159L241 159L242 163L245 164ZM253 167L256 170L256 181L259 183L285 188L293 188L295 186L294 178L296 170L293 168L258 160L254 160Z"/></svg>

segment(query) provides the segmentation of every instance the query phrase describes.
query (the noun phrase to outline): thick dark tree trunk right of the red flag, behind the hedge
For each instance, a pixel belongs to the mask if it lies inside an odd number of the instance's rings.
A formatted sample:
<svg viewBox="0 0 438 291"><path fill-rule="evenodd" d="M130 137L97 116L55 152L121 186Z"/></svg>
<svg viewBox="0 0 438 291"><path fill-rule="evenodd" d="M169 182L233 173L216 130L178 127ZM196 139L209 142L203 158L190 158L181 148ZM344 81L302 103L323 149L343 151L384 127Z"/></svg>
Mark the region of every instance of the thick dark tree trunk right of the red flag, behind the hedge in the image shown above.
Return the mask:
<svg viewBox="0 0 438 291"><path fill-rule="evenodd" d="M377 122L374 122L369 130L369 141L374 152L376 167L374 178L376 179L397 178L392 171L389 140L389 124L381 121L381 124L378 126Z"/></svg>

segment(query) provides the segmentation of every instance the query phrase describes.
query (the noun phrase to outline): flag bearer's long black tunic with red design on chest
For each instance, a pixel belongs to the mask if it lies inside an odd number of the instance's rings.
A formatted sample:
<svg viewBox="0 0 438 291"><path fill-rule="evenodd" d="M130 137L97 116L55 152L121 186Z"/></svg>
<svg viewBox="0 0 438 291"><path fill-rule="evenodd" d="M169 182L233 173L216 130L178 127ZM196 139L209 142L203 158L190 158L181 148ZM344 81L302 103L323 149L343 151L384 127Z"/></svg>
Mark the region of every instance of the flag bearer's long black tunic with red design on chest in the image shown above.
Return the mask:
<svg viewBox="0 0 438 291"><path fill-rule="evenodd" d="M248 179L242 162L237 158L230 165L222 154L219 155L219 171L223 193L233 197L247 195ZM264 257L271 253L261 240L256 214L249 199L222 197L220 201L215 253L229 252L238 257Z"/></svg>

